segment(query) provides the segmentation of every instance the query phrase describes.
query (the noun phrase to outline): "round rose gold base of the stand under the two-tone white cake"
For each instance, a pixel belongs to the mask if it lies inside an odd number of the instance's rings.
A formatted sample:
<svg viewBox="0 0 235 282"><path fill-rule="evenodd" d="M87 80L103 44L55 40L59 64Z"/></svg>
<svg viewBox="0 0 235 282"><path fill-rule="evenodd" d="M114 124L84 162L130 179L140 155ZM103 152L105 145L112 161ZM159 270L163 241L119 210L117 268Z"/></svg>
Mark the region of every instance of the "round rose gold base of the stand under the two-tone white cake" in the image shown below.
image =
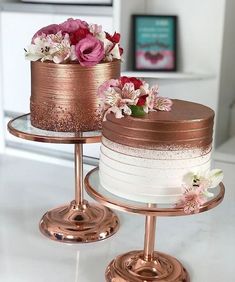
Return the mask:
<svg viewBox="0 0 235 282"><path fill-rule="evenodd" d="M105 272L107 282L189 282L182 264L175 258L154 252L149 261L143 251L132 251L115 258Z"/></svg>

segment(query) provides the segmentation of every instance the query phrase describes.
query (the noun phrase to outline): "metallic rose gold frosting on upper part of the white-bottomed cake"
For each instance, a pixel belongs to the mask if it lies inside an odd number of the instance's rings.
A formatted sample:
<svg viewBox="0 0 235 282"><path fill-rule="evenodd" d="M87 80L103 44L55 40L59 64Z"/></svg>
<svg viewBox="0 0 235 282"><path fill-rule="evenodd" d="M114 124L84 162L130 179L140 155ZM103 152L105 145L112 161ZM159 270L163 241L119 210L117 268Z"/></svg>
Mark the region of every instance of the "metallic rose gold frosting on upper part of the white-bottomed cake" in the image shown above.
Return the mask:
<svg viewBox="0 0 235 282"><path fill-rule="evenodd" d="M173 100L170 112L145 117L107 115L103 135L116 143L146 149L207 148L212 142L214 111L206 106Z"/></svg>

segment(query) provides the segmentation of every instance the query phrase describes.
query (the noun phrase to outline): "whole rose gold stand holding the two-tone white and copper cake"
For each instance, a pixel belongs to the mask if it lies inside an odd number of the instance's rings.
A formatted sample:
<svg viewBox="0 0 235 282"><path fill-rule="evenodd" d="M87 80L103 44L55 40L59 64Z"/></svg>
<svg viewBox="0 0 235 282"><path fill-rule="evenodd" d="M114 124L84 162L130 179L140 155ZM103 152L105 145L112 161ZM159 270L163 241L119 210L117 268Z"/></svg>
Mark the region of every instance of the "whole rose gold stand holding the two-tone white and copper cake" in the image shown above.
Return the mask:
<svg viewBox="0 0 235 282"><path fill-rule="evenodd" d="M98 168L85 178L88 194L103 205L124 212L143 214L145 222L144 250L131 251L116 257L105 272L108 282L189 282L189 274L174 257L154 251L157 216L186 215L183 208L145 204L117 197L105 190L99 182ZM214 189L214 197L201 206L199 212L216 207L224 197L224 185Z"/></svg>

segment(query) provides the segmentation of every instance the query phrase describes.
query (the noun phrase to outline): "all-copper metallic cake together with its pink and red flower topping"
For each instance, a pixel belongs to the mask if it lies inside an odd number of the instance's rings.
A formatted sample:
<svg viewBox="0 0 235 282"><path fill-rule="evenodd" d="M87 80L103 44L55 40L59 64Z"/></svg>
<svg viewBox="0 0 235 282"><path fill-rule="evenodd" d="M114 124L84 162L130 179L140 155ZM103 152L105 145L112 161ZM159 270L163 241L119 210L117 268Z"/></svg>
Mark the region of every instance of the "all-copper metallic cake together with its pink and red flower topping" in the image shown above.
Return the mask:
<svg viewBox="0 0 235 282"><path fill-rule="evenodd" d="M120 77L120 34L68 19L38 30L25 56L31 61L31 123L80 132L101 128L98 87Z"/></svg>

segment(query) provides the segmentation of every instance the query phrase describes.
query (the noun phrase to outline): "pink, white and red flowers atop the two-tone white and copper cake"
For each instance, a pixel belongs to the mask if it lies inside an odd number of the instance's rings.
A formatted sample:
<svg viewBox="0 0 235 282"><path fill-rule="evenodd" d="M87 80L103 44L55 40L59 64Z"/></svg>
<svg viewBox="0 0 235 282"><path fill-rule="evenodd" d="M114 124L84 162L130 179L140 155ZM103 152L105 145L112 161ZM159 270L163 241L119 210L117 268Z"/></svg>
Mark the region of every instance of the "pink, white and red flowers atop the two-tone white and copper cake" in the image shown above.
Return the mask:
<svg viewBox="0 0 235 282"><path fill-rule="evenodd" d="M158 85L150 87L135 77L122 76L106 81L98 89L104 120L111 112L116 118L122 118L124 115L142 117L149 111L170 111L172 101L158 93Z"/></svg>

